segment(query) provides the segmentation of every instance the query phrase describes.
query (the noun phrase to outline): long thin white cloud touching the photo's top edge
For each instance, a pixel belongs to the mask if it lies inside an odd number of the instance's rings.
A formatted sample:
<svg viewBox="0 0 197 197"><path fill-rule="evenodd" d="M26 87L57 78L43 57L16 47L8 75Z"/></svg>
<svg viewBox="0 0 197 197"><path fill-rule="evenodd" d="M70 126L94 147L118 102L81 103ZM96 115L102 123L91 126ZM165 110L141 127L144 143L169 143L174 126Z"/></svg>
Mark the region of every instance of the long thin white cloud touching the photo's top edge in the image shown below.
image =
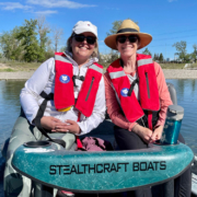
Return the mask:
<svg viewBox="0 0 197 197"><path fill-rule="evenodd" d="M37 4L45 8L68 8L68 9L79 9L88 7L96 7L95 4L82 4L69 0L27 0L30 4Z"/></svg>

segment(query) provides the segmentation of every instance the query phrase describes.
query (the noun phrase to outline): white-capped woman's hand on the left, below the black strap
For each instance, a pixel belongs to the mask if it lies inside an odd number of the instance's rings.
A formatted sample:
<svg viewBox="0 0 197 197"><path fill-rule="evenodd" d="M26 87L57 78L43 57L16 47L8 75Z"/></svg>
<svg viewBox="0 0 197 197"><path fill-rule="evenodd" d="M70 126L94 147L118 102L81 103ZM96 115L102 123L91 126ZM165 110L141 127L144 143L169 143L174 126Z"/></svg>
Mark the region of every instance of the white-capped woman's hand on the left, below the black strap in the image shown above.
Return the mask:
<svg viewBox="0 0 197 197"><path fill-rule="evenodd" d="M67 125L65 123L61 123L61 120L53 117L53 116L43 116L40 119L42 127L51 131L57 131L57 126L63 126Z"/></svg>

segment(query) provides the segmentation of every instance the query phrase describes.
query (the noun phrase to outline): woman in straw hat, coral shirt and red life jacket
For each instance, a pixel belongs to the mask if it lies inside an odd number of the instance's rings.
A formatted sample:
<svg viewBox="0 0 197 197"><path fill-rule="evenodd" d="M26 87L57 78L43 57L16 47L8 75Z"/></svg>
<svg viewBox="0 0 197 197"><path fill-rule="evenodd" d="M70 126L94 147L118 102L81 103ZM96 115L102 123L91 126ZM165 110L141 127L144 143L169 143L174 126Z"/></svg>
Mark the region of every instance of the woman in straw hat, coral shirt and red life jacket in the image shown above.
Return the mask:
<svg viewBox="0 0 197 197"><path fill-rule="evenodd" d="M131 20L123 21L117 33L105 38L108 47L120 53L104 76L107 113L116 125L115 138L120 150L144 149L159 140L167 106L172 104L160 65L151 56L137 54L151 40L152 36L141 33ZM185 182L181 178L177 182L177 196L190 195L189 172L185 174ZM150 188L132 195L152 196Z"/></svg>

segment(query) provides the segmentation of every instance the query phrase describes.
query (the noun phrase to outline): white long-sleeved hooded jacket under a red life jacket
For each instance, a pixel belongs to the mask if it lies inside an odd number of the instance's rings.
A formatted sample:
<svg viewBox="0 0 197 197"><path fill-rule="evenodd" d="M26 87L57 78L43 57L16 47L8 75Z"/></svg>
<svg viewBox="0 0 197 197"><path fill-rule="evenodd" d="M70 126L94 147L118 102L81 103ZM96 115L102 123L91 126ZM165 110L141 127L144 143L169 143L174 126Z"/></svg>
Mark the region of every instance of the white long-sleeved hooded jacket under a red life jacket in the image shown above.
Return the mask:
<svg viewBox="0 0 197 197"><path fill-rule="evenodd" d="M68 60L72 63L74 76L85 76L88 68L97 61L97 58L91 58L90 61L83 65L80 69L78 63L67 55ZM43 103L44 99L39 94L44 91L45 93L54 93L55 88L55 58L50 58L34 72L32 78L30 78L25 88L22 89L20 101L26 118L31 124L33 124L34 118L37 115L39 105ZM77 88L74 86L74 97L78 97L80 92L82 81L76 80ZM69 96L69 95L68 95ZM103 120L105 116L105 86L104 79L102 77L96 93L96 100L94 103L94 108L90 117L85 117L81 114L80 121L78 121L81 128L81 134L84 135L90 132L92 129L96 128ZM79 111L73 106L68 112L58 112L55 108L54 101L48 101L44 113L44 116L53 116L65 123L67 119L78 120Z"/></svg>

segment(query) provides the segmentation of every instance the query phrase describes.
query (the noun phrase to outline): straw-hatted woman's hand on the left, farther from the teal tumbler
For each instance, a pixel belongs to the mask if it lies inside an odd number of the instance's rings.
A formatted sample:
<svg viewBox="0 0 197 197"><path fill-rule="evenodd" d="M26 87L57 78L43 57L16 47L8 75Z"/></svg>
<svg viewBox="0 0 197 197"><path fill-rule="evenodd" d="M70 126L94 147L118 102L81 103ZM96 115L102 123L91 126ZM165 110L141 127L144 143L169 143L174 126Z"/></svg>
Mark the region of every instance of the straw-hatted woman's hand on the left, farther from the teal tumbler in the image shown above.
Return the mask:
<svg viewBox="0 0 197 197"><path fill-rule="evenodd" d="M136 125L132 128L132 131L136 132L139 137L141 137L141 139L149 143L151 141L151 137L152 137L152 130L150 130L149 128L142 127L140 125Z"/></svg>

